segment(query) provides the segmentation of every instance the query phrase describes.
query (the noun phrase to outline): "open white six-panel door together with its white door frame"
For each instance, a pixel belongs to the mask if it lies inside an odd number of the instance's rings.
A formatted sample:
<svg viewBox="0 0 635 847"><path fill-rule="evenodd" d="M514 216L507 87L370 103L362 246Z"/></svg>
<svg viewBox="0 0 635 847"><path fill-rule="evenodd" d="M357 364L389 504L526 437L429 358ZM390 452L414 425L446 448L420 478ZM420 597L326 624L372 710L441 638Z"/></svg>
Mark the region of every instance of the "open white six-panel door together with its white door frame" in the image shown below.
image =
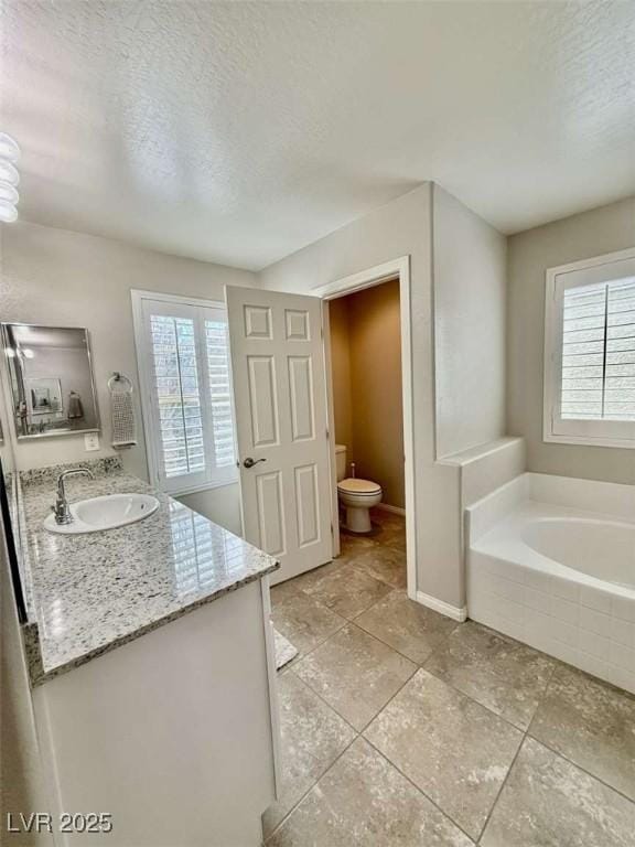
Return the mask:
<svg viewBox="0 0 635 847"><path fill-rule="evenodd" d="M395 259L311 296L226 289L243 525L278 558L273 583L341 551L329 302L398 280L406 572L417 599L409 267Z"/></svg>

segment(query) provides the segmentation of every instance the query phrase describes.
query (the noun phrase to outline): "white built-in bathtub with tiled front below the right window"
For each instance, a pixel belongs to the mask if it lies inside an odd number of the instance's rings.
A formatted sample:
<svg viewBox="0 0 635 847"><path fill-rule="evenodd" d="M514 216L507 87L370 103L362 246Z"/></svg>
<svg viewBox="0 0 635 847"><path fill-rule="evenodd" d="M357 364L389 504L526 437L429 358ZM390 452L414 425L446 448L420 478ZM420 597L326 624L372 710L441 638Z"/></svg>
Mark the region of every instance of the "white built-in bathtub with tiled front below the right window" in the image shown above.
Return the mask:
<svg viewBox="0 0 635 847"><path fill-rule="evenodd" d="M465 534L470 618L635 694L635 486L525 473Z"/></svg>

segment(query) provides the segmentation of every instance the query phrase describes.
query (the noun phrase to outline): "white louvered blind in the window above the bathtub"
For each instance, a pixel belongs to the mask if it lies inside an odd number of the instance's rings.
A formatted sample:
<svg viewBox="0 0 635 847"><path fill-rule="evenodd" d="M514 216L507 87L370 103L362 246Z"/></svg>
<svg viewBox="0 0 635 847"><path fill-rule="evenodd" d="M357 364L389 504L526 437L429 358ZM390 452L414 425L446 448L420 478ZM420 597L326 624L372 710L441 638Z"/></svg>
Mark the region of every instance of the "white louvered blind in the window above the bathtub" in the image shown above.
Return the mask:
<svg viewBox="0 0 635 847"><path fill-rule="evenodd" d="M560 414L635 421L635 277L564 291Z"/></svg>

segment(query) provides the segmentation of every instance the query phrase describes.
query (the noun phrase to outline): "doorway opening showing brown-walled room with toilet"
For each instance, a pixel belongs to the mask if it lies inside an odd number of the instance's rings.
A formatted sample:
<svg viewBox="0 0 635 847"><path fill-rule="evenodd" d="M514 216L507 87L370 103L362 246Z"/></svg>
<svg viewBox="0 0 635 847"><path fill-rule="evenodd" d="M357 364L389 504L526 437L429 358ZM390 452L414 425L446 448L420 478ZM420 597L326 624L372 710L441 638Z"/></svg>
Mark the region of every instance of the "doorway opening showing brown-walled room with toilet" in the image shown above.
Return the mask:
<svg viewBox="0 0 635 847"><path fill-rule="evenodd" d="M399 280L327 308L340 533L378 539L406 516Z"/></svg>

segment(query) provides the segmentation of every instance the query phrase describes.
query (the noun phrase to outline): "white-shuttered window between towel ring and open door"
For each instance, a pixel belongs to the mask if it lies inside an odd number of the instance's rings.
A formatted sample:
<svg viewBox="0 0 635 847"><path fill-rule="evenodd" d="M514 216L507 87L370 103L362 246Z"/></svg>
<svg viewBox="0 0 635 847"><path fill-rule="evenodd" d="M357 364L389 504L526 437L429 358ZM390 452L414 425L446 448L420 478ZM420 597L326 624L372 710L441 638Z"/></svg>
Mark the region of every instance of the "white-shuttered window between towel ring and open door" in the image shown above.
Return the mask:
<svg viewBox="0 0 635 847"><path fill-rule="evenodd" d="M224 304L132 292L150 474L184 494L238 479Z"/></svg>

